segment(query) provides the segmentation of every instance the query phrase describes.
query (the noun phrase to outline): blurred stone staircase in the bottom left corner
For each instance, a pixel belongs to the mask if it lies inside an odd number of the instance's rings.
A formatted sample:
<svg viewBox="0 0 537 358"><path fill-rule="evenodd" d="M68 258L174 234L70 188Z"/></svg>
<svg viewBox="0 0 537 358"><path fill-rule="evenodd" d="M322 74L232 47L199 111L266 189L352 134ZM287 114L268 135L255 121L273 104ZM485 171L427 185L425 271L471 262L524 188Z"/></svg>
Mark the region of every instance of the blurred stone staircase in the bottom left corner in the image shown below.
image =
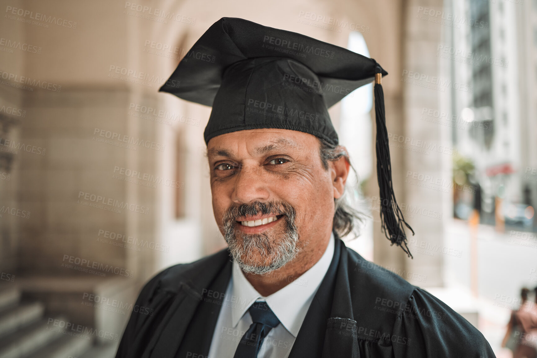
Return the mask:
<svg viewBox="0 0 537 358"><path fill-rule="evenodd" d="M54 321L56 320L56 321ZM41 302L20 301L20 290L0 288L0 358L113 358L117 344L93 345L94 337L73 337L61 326L67 317L45 316Z"/></svg>

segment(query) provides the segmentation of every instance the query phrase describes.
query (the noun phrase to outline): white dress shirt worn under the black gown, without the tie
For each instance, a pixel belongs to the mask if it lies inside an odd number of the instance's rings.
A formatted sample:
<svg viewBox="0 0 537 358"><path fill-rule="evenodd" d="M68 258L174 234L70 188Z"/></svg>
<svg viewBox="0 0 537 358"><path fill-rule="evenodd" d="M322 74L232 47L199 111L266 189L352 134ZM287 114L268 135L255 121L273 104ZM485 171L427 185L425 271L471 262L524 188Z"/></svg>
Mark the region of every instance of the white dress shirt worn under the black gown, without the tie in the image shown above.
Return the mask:
<svg viewBox="0 0 537 358"><path fill-rule="evenodd" d="M233 358L238 343L252 324L248 309L256 301L266 301L280 320L280 324L265 337L257 357L287 358L332 261L334 240L332 233L321 259L298 279L268 297L263 297L252 287L234 261L233 274L214 328L209 358Z"/></svg>

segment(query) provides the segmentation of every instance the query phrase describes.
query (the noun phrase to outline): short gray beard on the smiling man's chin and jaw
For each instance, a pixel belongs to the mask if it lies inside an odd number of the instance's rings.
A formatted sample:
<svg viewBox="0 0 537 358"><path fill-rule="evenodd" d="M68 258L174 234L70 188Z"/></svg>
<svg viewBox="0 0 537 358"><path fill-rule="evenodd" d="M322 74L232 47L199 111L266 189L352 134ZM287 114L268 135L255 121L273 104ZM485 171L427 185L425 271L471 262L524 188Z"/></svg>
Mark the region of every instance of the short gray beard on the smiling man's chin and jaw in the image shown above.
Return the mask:
<svg viewBox="0 0 537 358"><path fill-rule="evenodd" d="M229 245L229 251L233 259L243 272L257 275L266 274L285 266L296 257L300 250L296 246L299 241L299 234L295 225L295 211L292 207L287 206L286 208L288 208L286 216L282 217L286 222L284 235L276 238L274 242L271 242L269 235L266 233L241 233L242 240L237 239L234 220L237 216L224 216L224 239ZM245 262L241 259L241 257L255 257L255 254L259 254L262 258L270 258L269 264L266 265L265 262L259 262L258 260Z"/></svg>

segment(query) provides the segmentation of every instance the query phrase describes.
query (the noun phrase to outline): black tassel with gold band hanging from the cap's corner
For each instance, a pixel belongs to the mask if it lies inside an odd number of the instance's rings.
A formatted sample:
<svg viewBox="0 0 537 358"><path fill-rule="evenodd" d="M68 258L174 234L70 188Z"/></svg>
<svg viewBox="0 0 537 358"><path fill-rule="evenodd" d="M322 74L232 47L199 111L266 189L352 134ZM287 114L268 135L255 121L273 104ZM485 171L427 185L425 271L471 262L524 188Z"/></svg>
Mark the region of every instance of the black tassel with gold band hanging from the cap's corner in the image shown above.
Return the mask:
<svg viewBox="0 0 537 358"><path fill-rule="evenodd" d="M407 235L404 226L414 230L404 220L403 213L395 200L394 187L391 182L391 159L386 128L386 113L384 111L384 91L382 90L380 70L375 77L375 119L376 119L376 175L380 191L380 220L382 231L391 245L396 244L412 257L407 246ZM403 225L404 224L404 225Z"/></svg>

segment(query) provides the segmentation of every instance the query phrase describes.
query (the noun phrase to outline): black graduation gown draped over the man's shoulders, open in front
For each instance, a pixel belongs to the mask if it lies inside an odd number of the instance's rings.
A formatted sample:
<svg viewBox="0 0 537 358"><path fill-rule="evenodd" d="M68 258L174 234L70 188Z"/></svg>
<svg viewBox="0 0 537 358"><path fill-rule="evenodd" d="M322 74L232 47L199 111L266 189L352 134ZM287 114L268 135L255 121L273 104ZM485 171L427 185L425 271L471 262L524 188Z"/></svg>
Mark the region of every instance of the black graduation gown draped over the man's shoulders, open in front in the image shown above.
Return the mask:
<svg viewBox="0 0 537 358"><path fill-rule="evenodd" d="M495 357L466 319L334 234L332 262L289 358ZM132 313L116 358L205 357L221 305L231 303L223 295L231 264L226 249L153 277L136 301L153 314Z"/></svg>

